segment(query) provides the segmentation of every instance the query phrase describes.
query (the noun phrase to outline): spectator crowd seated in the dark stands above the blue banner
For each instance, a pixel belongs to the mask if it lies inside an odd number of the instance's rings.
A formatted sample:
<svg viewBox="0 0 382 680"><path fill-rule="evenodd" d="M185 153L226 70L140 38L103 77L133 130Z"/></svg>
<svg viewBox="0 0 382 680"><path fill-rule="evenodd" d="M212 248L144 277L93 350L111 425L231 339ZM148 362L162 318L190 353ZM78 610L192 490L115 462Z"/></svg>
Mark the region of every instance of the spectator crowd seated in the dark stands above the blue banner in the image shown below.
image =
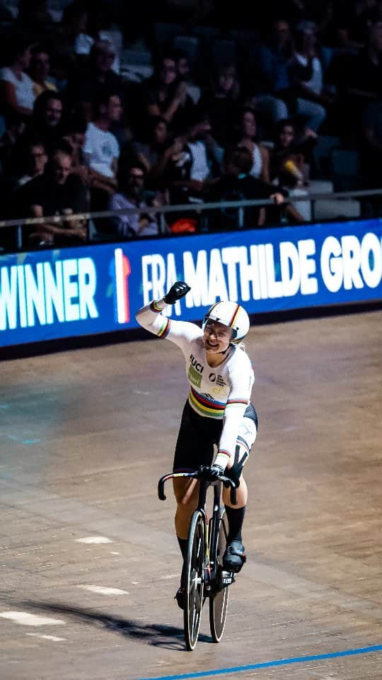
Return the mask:
<svg viewBox="0 0 382 680"><path fill-rule="evenodd" d="M23 248L304 222L291 197L328 138L357 153L358 188L381 187L382 0L62 5L0 3L1 220L54 217ZM198 210L249 199L271 203Z"/></svg>

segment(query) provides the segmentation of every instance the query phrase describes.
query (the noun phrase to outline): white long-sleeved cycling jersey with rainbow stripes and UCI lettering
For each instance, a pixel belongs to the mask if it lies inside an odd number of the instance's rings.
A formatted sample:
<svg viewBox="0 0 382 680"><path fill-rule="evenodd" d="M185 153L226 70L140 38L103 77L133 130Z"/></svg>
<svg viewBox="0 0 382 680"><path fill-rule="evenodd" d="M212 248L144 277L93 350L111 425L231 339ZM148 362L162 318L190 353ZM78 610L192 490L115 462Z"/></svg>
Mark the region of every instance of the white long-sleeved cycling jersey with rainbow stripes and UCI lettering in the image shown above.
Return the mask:
<svg viewBox="0 0 382 680"><path fill-rule="evenodd" d="M216 463L226 467L235 453L236 437L250 402L255 376L250 358L231 345L224 361L216 367L207 362L203 331L196 324L174 321L161 314L163 302L151 302L137 312L137 322L160 338L167 338L183 351L190 383L188 401L204 418L223 419Z"/></svg>

